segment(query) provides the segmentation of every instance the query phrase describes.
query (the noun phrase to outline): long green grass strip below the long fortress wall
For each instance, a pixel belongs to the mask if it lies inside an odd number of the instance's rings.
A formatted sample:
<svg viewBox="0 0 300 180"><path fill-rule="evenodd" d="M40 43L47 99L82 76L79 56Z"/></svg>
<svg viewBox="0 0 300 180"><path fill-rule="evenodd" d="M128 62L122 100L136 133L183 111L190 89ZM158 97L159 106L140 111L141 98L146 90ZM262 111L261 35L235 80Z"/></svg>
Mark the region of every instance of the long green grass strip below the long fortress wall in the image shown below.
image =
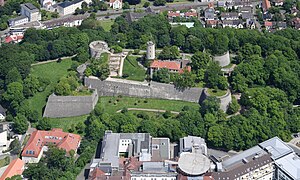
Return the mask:
<svg viewBox="0 0 300 180"><path fill-rule="evenodd" d="M113 114L124 107L162 109L170 111L181 111L186 105L199 107L199 104L192 102L135 97L99 97L98 102L101 103L104 111L109 114Z"/></svg>

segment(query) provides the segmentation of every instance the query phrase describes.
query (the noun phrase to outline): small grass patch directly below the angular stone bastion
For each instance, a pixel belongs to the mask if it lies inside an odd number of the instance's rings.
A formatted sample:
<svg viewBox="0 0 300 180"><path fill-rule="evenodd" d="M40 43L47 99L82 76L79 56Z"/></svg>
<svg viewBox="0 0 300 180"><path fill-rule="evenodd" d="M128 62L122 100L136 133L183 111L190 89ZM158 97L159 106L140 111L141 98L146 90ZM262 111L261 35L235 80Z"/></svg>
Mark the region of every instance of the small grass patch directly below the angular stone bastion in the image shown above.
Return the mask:
<svg viewBox="0 0 300 180"><path fill-rule="evenodd" d="M49 122L53 128L62 128L68 132L69 128L74 124L76 126L79 122L84 122L88 115L67 117L67 118L49 118Z"/></svg>

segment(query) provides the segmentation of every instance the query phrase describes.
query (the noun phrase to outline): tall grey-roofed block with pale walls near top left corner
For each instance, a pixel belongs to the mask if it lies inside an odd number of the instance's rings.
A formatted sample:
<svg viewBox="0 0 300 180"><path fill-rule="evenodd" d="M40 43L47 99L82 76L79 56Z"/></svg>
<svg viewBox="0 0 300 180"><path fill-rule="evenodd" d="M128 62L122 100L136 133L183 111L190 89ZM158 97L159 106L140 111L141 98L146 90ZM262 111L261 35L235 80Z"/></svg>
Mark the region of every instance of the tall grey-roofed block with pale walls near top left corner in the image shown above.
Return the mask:
<svg viewBox="0 0 300 180"><path fill-rule="evenodd" d="M39 9L31 3L21 4L21 15L28 17L29 22L42 20Z"/></svg>

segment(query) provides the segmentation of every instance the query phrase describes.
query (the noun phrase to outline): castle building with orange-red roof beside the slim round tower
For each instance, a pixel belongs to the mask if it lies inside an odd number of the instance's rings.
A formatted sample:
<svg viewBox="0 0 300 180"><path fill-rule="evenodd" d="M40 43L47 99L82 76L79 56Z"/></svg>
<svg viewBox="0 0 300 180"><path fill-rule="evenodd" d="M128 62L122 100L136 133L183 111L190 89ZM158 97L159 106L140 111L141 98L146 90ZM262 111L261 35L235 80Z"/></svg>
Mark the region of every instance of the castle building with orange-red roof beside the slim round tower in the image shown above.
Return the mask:
<svg viewBox="0 0 300 180"><path fill-rule="evenodd" d="M185 61L160 61L154 60L150 65L150 76L152 77L155 71L166 68L171 73L183 73L186 69L189 72L191 71L191 67L187 66Z"/></svg>

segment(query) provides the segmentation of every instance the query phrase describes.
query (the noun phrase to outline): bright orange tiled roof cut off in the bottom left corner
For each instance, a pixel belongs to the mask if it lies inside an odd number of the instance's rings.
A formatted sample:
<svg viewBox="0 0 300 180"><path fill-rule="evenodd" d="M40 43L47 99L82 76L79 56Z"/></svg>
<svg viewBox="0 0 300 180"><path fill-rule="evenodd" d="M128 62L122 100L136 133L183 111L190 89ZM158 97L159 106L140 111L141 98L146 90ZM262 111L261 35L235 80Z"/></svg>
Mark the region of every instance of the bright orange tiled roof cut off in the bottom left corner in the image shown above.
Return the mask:
<svg viewBox="0 0 300 180"><path fill-rule="evenodd" d="M15 175L21 175L24 171L24 162L21 159L15 159L13 160L4 173L2 174L0 180L5 180L6 178L15 176Z"/></svg>

